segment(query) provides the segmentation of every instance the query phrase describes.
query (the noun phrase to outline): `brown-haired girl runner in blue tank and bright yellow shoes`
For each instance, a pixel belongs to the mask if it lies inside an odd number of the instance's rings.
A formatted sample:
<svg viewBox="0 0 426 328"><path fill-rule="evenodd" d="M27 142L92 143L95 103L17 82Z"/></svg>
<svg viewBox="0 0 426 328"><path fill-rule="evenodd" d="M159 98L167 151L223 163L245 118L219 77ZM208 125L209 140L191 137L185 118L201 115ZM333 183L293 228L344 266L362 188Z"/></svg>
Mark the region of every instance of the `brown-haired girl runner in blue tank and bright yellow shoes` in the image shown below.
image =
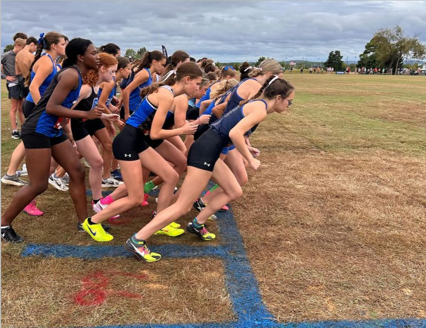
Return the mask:
<svg viewBox="0 0 426 328"><path fill-rule="evenodd" d="M179 66L178 70L172 70L166 74L161 80L163 81L162 83L159 85L154 84L141 92L143 101L127 121L126 127L118 134L113 142L114 156L120 164L126 186L119 186L113 194L101 200L99 203L104 206L104 209L85 221L84 224L87 224L88 228L94 232L89 233L93 239L97 241L105 240L98 237L98 234L102 231L100 223L103 220L137 206L144 199L144 190L141 188L144 183L142 167L155 172L164 180L164 184L158 195L158 211L162 213L169 206L173 197L174 187L179 180L179 174L161 155L147 144L145 138L147 126L144 125L144 122L156 110L150 130L150 137L153 140L168 138L177 134L193 133L197 126L191 123L187 123L183 127L174 130L165 130L161 127L164 124L168 110L173 105L174 97L183 93L195 93L199 89L201 77L201 69L196 63L184 63ZM116 196L126 187L128 196L118 199ZM154 233L162 234L160 232L162 229L168 236L182 234L183 230L170 226L171 222L166 223L164 226L158 226L155 231L150 230L151 233L149 236ZM126 249L139 259L147 262L155 262L161 259L161 255L151 253L147 247L145 240L149 236L141 239L138 234L135 234L126 242Z"/></svg>

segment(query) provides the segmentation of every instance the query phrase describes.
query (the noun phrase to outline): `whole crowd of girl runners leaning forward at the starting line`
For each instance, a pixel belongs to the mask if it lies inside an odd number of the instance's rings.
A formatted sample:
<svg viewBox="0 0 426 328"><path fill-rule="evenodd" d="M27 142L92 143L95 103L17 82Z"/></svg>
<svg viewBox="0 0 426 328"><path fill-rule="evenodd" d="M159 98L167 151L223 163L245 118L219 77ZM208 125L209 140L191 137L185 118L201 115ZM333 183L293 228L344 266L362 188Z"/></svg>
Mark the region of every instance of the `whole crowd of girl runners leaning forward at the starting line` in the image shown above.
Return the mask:
<svg viewBox="0 0 426 328"><path fill-rule="evenodd" d="M36 48L28 53L36 54L20 71L28 86L24 103L18 104L25 115L22 142L2 178L22 187L2 214L2 238L24 241L12 222L23 210L42 214L35 199L50 182L69 191L77 229L98 242L114 238L103 222L146 205L158 186L151 220L125 242L140 260L161 259L147 240L182 235L185 230L175 221L193 207L199 214L186 230L203 241L214 240L207 220L242 195L247 167L260 165L250 135L267 114L285 112L292 104L294 88L282 79L281 65L267 59L238 72L218 68L207 58L195 62L182 50L170 57L147 51L131 63L115 44L97 49L90 40L68 42L58 32L28 40ZM18 171L24 157L25 169ZM92 216L81 158L90 165ZM28 183L20 179L26 173ZM201 198L210 180L216 185ZM102 198L102 187L115 189Z"/></svg>

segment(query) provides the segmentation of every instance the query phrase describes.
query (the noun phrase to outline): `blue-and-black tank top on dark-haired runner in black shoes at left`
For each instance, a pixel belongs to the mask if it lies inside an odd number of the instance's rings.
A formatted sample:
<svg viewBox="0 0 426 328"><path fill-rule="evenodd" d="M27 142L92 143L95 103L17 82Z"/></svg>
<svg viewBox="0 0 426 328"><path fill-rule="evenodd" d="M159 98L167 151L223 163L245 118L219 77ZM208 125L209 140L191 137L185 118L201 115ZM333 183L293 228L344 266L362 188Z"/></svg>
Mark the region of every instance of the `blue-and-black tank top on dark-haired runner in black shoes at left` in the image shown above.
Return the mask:
<svg viewBox="0 0 426 328"><path fill-rule="evenodd" d="M50 83L49 87L44 92L43 97L40 99L39 103L28 115L24 125L22 126L21 134L23 136L25 136L25 134L37 132L43 134L46 137L54 138L62 136L62 134L64 133L60 123L64 120L66 121L67 119L46 113L46 105L50 99L50 96L58 85L58 76L67 69L75 69L78 72L78 87L68 93L65 101L61 105L66 108L71 108L78 100L80 96L80 89L83 84L81 72L80 69L76 66L69 66L62 69L55 75L53 81Z"/></svg>

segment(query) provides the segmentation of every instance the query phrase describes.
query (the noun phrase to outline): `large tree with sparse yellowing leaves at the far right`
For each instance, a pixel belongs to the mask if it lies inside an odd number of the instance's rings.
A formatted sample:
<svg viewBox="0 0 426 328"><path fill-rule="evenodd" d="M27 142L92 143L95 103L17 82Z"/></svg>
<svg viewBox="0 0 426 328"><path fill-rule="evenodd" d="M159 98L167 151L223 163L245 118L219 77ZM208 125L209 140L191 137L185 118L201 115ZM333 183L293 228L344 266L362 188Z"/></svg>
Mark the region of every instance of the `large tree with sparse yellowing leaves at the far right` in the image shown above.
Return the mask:
<svg viewBox="0 0 426 328"><path fill-rule="evenodd" d="M385 28L377 31L372 40L376 47L377 60L379 65L395 68L398 71L404 58L412 57L423 59L426 55L426 46L418 40L416 36L404 35L400 26L393 29Z"/></svg>

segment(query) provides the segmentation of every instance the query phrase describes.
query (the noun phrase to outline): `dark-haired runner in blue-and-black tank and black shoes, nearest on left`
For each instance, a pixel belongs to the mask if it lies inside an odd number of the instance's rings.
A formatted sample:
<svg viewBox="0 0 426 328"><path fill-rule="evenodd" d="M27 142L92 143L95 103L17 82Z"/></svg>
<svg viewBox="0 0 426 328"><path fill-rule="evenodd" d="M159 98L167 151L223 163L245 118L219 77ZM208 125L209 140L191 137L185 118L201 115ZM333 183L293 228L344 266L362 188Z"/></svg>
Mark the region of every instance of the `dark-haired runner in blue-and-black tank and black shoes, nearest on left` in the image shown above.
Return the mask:
<svg viewBox="0 0 426 328"><path fill-rule="evenodd" d="M102 110L97 107L88 112L69 109L79 97L82 74L97 68L99 56L93 43L82 38L69 42L66 55L65 68L55 75L23 126L22 140L31 183L16 192L2 216L2 235L7 234L12 242L23 241L11 223L32 199L46 190L51 157L69 175L69 194L78 220L83 222L87 217L84 168L62 128L69 118L95 119L101 116Z"/></svg>

